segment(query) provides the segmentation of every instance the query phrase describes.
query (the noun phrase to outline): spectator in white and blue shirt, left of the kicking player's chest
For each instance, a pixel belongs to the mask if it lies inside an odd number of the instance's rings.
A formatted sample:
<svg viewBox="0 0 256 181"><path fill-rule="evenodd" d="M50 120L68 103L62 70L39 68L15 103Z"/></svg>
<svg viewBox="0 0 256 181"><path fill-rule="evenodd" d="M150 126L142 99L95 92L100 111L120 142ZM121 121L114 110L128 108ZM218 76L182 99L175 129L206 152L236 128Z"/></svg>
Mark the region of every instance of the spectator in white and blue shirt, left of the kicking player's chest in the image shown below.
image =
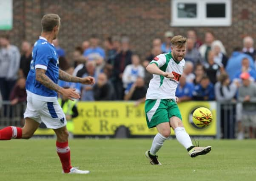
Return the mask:
<svg viewBox="0 0 256 181"><path fill-rule="evenodd" d="M125 89L125 92L129 92L137 77L144 78L145 70L140 64L139 56L134 54L131 56L131 64L125 67L122 75L123 88Z"/></svg>

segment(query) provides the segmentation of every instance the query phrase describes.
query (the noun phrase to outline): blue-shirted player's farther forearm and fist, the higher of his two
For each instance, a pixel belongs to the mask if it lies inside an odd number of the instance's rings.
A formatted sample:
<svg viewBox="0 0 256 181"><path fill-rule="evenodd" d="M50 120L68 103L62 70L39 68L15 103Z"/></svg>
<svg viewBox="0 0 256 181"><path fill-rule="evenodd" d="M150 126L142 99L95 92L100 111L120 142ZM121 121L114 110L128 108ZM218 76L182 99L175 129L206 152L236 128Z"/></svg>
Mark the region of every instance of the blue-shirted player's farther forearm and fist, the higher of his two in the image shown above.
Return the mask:
<svg viewBox="0 0 256 181"><path fill-rule="evenodd" d="M64 72L63 70L59 70L59 79L66 81L66 82L78 82L81 84L94 84L95 83L95 79L93 77L84 77L84 78L80 78L80 77L75 77L72 75L69 75L67 72Z"/></svg>

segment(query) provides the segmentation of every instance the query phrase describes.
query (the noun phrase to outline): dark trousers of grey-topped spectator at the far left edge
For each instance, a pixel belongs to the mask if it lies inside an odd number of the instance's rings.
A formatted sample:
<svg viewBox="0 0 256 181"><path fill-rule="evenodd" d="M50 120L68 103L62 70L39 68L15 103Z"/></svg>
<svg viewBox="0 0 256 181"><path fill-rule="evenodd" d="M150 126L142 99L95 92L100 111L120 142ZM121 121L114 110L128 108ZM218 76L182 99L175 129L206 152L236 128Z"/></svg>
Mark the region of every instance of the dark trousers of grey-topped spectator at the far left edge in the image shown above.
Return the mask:
<svg viewBox="0 0 256 181"><path fill-rule="evenodd" d="M9 100L11 90L14 87L15 81L6 80L6 78L0 78L0 91L3 97L3 100Z"/></svg>

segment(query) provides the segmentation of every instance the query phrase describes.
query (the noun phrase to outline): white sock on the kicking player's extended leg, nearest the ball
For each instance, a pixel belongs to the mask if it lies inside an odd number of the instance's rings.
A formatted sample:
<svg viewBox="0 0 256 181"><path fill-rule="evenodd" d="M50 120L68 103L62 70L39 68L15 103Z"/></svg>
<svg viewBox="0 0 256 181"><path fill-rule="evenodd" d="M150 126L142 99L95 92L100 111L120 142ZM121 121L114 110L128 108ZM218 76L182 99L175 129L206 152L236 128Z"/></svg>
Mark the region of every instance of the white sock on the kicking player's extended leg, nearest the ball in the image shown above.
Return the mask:
<svg viewBox="0 0 256 181"><path fill-rule="evenodd" d="M174 129L176 139L180 144L182 144L186 149L193 146L190 136L186 132L185 128L183 127L177 127Z"/></svg>

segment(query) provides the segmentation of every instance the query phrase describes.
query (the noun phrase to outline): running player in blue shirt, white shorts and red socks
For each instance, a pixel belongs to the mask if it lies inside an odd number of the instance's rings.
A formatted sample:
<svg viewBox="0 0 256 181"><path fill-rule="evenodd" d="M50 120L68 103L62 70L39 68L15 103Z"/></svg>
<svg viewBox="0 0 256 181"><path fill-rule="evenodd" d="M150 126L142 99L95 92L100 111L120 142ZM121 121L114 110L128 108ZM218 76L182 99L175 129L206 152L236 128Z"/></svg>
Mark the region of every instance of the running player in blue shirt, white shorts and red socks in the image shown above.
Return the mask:
<svg viewBox="0 0 256 181"><path fill-rule="evenodd" d="M64 89L57 85L58 79L81 84L94 84L92 77L79 78L59 70L58 55L52 40L57 38L60 30L60 17L57 14L46 14L41 20L42 33L35 42L31 67L26 81L27 108L24 113L23 128L9 126L0 130L0 140L29 139L41 122L52 128L57 135L57 153L63 167L63 173L87 174L88 170L78 170L71 166L68 147L68 130L63 110L57 102L57 94L78 99L75 89Z"/></svg>

